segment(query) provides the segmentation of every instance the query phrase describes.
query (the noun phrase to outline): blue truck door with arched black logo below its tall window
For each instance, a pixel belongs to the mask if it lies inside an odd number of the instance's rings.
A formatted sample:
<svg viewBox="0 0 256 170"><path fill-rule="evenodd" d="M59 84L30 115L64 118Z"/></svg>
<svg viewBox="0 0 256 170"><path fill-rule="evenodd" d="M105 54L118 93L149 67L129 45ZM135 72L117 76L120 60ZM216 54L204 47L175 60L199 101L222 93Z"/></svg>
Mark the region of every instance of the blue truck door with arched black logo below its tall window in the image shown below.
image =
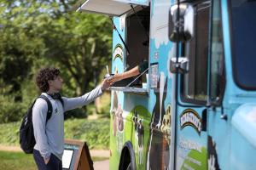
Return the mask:
<svg viewBox="0 0 256 170"><path fill-rule="evenodd" d="M181 46L189 71L177 77L175 169L207 169L207 84L210 1L192 4L194 36Z"/></svg>

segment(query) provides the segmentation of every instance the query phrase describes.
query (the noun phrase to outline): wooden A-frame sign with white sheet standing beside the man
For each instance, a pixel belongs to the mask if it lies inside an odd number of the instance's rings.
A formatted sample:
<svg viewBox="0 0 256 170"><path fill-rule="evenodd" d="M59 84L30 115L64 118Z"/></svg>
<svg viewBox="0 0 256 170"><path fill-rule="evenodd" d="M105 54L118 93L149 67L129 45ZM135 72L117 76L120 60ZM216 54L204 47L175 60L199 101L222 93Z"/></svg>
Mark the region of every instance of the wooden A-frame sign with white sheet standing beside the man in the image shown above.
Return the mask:
<svg viewBox="0 0 256 170"><path fill-rule="evenodd" d="M66 139L62 156L62 169L64 170L93 170L93 161L85 142Z"/></svg>

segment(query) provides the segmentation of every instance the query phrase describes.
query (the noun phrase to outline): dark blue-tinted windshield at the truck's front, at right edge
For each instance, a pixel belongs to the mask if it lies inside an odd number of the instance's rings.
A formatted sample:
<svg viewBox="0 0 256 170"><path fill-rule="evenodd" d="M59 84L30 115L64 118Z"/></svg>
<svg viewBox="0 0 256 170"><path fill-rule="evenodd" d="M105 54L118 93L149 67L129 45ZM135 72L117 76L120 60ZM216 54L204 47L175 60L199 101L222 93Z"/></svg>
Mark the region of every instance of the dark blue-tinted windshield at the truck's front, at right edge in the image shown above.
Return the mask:
<svg viewBox="0 0 256 170"><path fill-rule="evenodd" d="M233 70L240 88L256 89L256 1L232 0L231 39Z"/></svg>

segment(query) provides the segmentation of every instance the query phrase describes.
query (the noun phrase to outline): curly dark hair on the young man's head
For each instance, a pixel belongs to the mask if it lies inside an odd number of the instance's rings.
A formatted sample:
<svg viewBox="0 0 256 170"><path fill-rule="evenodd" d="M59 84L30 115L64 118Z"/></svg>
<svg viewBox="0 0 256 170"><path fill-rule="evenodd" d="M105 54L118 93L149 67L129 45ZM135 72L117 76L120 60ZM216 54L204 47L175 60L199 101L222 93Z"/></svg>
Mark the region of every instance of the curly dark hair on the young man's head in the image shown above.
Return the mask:
<svg viewBox="0 0 256 170"><path fill-rule="evenodd" d="M49 90L49 80L54 80L55 77L60 75L59 69L56 68L44 68L38 72L36 82L41 92L47 92Z"/></svg>

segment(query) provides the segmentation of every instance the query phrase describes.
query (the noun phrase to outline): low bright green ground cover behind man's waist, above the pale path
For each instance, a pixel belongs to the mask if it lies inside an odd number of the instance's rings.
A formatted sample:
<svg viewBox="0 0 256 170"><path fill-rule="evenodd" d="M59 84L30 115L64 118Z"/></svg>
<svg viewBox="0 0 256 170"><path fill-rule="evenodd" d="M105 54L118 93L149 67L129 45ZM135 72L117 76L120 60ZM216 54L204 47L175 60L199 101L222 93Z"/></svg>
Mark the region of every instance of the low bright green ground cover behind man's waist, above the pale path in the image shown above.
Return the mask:
<svg viewBox="0 0 256 170"><path fill-rule="evenodd" d="M19 145L21 122L0 124L0 144ZM86 141L90 149L109 148L109 120L69 119L64 123L65 139Z"/></svg>

